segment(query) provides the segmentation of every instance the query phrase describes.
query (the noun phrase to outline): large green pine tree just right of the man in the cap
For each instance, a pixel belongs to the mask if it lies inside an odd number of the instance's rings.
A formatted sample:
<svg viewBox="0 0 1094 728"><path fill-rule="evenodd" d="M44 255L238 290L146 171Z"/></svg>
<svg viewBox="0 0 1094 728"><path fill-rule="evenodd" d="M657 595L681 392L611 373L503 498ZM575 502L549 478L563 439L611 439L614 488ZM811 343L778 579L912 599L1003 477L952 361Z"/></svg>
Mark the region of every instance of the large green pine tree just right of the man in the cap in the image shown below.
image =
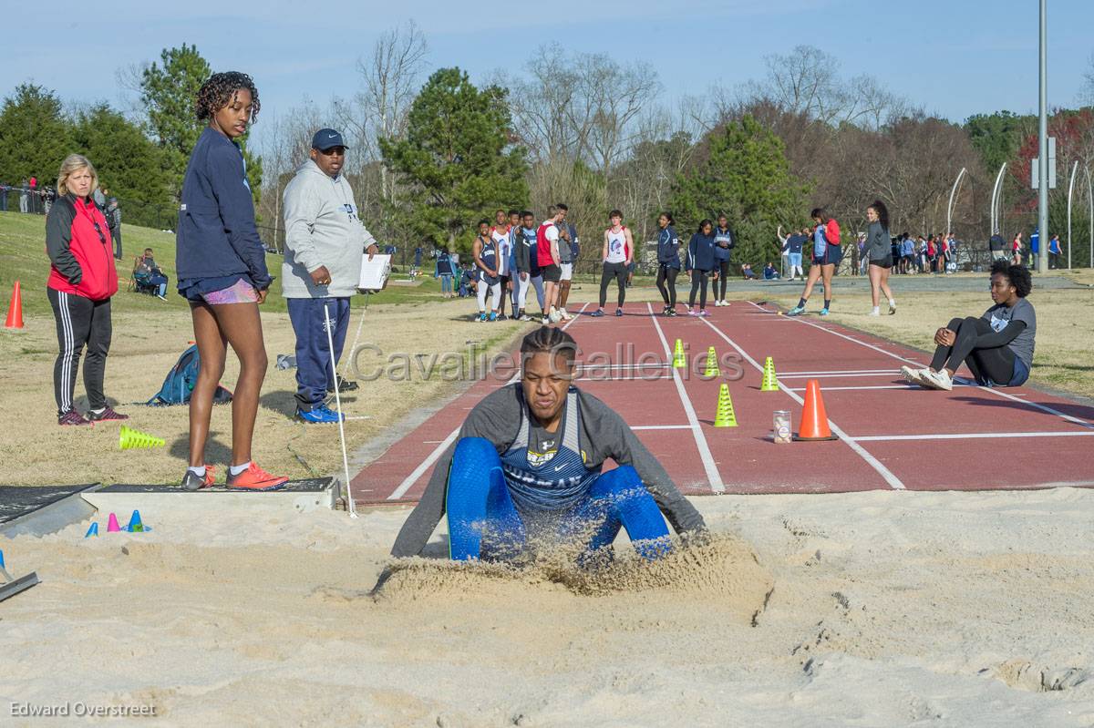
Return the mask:
<svg viewBox="0 0 1094 728"><path fill-rule="evenodd" d="M391 214L415 240L466 250L479 219L527 203L525 151L510 143L505 94L441 69L415 99L406 137L379 140L401 184Z"/></svg>

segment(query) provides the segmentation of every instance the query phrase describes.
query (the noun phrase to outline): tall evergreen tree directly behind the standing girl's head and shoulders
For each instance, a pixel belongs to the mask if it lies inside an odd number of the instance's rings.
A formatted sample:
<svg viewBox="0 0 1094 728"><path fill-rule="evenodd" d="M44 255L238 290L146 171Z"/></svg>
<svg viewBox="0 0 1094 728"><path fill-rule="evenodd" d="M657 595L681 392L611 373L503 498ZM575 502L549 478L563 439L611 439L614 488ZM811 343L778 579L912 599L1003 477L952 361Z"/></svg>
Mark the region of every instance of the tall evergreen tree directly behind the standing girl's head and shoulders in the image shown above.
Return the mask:
<svg viewBox="0 0 1094 728"><path fill-rule="evenodd" d="M212 69L198 52L197 46L186 44L181 48L164 48L160 62L153 62L141 74L141 101L148 109L148 129L164 152L171 174L171 190L176 199L182 192L190 152L206 127L194 113L194 102L201 84L210 75ZM257 203L263 179L261 163L247 152L244 140L240 142L244 148L247 181Z"/></svg>

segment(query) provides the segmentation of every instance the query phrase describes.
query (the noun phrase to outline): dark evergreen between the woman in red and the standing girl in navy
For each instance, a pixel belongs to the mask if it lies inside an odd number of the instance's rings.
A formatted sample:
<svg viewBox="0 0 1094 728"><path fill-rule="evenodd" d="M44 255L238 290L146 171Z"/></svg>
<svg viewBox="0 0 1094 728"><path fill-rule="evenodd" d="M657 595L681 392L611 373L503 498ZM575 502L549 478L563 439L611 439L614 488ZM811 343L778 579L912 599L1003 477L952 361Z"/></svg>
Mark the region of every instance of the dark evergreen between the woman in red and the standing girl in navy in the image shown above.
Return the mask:
<svg viewBox="0 0 1094 728"><path fill-rule="evenodd" d="M131 121L106 104L75 116L72 138L98 173L98 185L123 204L127 222L173 226L170 173L163 152Z"/></svg>

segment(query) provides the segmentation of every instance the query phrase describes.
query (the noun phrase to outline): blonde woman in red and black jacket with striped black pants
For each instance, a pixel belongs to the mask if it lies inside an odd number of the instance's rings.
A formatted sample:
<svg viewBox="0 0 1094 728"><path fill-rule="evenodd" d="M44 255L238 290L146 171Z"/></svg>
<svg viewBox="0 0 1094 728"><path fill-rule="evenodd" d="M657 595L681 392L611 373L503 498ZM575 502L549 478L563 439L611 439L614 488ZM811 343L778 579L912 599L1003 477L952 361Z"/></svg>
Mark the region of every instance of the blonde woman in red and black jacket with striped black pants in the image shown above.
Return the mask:
<svg viewBox="0 0 1094 728"><path fill-rule="evenodd" d="M110 296L118 292L110 227L92 199L98 176L91 162L69 154L57 177L57 202L46 216L46 251L50 270L49 304L57 319L60 352L54 364L57 423L82 425L128 420L106 403L103 376L110 349ZM83 348L83 386L90 409L81 415L72 404L75 373Z"/></svg>

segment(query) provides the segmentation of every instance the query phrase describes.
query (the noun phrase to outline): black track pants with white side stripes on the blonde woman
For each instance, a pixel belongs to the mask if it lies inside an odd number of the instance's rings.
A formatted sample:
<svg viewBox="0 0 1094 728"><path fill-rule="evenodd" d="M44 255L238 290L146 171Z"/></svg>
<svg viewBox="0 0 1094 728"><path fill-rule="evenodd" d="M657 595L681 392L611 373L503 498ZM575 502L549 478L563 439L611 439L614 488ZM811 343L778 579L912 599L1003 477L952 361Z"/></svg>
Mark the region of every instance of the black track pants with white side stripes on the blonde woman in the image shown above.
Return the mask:
<svg viewBox="0 0 1094 728"><path fill-rule="evenodd" d="M106 353L110 349L110 300L92 301L71 293L47 289L49 305L57 319L57 345L60 352L54 364L54 396L57 415L72 409L75 373L84 347L83 387L88 391L90 409L106 407L103 377L106 374Z"/></svg>

